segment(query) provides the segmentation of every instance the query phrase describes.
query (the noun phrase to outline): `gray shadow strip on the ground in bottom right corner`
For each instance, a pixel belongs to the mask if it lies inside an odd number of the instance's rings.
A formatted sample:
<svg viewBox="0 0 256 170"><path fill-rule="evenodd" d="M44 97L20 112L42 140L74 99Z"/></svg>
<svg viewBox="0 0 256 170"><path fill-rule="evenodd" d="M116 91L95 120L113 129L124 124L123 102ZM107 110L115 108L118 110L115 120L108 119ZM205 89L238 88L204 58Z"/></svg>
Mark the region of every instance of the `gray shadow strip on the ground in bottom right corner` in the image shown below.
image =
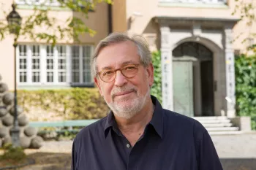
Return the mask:
<svg viewBox="0 0 256 170"><path fill-rule="evenodd" d="M255 170L256 158L221 158L224 170Z"/></svg>

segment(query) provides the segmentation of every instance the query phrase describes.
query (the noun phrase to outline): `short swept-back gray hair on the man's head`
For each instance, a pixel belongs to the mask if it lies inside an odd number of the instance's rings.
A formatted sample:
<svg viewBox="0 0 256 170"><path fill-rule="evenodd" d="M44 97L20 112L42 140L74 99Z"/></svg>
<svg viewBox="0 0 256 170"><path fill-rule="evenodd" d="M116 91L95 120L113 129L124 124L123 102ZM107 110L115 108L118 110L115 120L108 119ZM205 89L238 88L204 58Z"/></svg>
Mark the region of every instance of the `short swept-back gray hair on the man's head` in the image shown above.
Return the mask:
<svg viewBox="0 0 256 170"><path fill-rule="evenodd" d="M138 55L140 56L140 63L143 64L143 66L148 66L152 62L151 58L151 52L148 47L148 43L146 42L146 39L143 38L143 36L140 36L138 34L132 34L129 35L127 33L112 33L108 35L105 39L102 39L97 47L94 50L94 55L92 55L91 58L91 75L92 77L95 77L97 74L97 63L96 59L99 55L100 50L104 47L108 47L109 45L113 45L119 42L126 42L131 41L134 42L135 45L138 47Z"/></svg>

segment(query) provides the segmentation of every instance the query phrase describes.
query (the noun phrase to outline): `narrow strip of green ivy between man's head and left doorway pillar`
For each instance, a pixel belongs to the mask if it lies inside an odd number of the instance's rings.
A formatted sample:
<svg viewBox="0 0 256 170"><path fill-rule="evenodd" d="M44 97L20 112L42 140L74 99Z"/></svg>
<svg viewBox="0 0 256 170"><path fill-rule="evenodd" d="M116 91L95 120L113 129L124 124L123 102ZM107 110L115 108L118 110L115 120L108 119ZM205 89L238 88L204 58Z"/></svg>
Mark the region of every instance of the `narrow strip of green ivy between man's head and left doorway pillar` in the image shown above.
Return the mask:
<svg viewBox="0 0 256 170"><path fill-rule="evenodd" d="M159 99L162 103L162 69L161 69L161 53L156 51L152 53L152 62L154 66L154 84L151 88L151 94Z"/></svg>

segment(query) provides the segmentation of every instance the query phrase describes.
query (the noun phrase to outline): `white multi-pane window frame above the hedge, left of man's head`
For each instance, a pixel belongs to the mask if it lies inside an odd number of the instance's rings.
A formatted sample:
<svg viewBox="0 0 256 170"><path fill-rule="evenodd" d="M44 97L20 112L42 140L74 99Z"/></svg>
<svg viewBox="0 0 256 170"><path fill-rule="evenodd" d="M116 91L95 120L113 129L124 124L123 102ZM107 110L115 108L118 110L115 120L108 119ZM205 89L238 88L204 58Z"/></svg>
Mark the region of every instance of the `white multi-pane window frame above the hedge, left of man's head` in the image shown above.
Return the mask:
<svg viewBox="0 0 256 170"><path fill-rule="evenodd" d="M21 44L26 45L26 44ZM19 46L16 49L17 56L17 82L18 88L30 88L30 87L69 87L69 86L91 86L94 85L93 79L91 78L91 82L83 82L83 47L90 47L91 54L94 50L92 45L77 45L79 47L79 82L72 82L72 46L69 45L56 45L53 48L53 82L47 82L47 46L48 45L39 45L39 82L32 82L32 47L33 45L26 45L26 56L20 56ZM59 57L58 46L64 46L66 50L66 61L65 61L65 70L66 70L66 82L59 82L59 72L64 72L64 69L59 69L59 59L63 59L64 57ZM20 69L20 57L26 58L26 69ZM20 72L26 70L26 82L20 82Z"/></svg>

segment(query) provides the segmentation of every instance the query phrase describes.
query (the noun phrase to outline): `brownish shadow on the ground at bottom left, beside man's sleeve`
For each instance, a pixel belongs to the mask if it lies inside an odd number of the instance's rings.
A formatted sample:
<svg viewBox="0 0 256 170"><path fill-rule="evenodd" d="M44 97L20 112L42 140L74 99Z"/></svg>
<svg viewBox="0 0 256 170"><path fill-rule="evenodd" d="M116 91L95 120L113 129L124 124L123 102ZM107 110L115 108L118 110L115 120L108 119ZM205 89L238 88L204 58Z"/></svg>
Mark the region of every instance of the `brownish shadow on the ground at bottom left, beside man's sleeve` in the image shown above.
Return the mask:
<svg viewBox="0 0 256 170"><path fill-rule="evenodd" d="M20 170L70 170L71 155L67 153L36 152L28 155L36 163Z"/></svg>

